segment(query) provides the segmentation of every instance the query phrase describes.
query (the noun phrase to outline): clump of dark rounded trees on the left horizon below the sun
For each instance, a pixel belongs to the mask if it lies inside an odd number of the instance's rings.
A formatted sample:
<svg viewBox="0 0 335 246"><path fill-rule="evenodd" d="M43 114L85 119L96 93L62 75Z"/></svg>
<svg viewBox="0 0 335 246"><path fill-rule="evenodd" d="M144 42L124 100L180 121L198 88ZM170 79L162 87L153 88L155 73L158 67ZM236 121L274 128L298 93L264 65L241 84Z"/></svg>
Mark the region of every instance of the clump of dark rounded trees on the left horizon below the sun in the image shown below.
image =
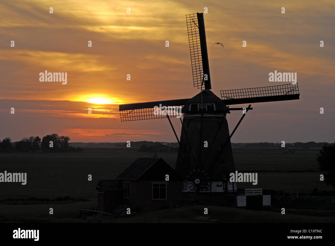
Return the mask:
<svg viewBox="0 0 335 246"><path fill-rule="evenodd" d="M27 152L27 151L44 151L44 152L80 152L82 148L69 146L70 137L59 136L57 133L45 137L23 138L18 142L11 142L10 138L5 138L0 142L0 152ZM52 141L52 147L51 143Z"/></svg>

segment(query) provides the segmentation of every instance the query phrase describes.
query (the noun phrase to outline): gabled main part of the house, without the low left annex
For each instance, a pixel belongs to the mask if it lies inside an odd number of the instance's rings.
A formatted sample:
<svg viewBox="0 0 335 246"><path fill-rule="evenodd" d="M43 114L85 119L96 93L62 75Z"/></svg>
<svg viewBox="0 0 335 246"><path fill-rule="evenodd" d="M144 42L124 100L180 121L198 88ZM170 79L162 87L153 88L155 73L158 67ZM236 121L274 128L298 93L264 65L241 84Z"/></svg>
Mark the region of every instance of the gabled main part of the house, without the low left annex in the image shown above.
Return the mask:
<svg viewBox="0 0 335 246"><path fill-rule="evenodd" d="M182 179L162 158L138 158L116 179L124 187L123 204L134 211L180 203Z"/></svg>

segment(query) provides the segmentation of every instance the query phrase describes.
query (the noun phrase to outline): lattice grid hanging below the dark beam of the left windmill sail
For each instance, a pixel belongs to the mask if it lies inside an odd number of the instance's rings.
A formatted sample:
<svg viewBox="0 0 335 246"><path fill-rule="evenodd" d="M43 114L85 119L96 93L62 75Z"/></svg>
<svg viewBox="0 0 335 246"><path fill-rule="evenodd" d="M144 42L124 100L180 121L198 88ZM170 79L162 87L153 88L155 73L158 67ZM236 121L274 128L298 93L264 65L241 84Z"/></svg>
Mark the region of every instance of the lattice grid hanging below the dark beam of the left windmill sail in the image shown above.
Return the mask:
<svg viewBox="0 0 335 246"><path fill-rule="evenodd" d="M169 117L181 117L182 106L167 106L166 110L164 108L140 108L131 110L120 111L121 121L134 121L134 120L144 120L144 119L159 119ZM167 113L167 115L166 115Z"/></svg>

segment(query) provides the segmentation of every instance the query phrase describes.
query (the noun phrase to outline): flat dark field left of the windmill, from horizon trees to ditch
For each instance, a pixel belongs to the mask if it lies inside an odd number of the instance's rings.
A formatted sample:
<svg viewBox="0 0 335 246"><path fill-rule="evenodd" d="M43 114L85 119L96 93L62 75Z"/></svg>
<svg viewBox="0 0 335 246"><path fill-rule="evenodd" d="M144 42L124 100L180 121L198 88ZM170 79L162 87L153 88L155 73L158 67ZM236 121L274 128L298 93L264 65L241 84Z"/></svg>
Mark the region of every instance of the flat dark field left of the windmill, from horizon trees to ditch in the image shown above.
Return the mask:
<svg viewBox="0 0 335 246"><path fill-rule="evenodd" d="M95 199L100 179L115 179L138 157L152 157L128 149L85 149L81 153L1 153L0 170L26 172L27 184L2 183L0 197L6 198L71 198ZM168 163L177 155L162 155ZM92 181L88 181L88 174ZM0 200L2 200L0 198Z"/></svg>

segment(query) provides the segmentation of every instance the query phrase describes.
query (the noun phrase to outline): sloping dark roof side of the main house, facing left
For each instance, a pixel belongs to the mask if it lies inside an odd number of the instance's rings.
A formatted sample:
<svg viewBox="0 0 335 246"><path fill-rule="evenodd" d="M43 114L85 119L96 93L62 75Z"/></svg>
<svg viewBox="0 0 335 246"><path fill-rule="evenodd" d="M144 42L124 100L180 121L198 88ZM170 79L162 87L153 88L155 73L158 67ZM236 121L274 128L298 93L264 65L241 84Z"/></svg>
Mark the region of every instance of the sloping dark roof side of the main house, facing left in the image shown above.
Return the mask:
<svg viewBox="0 0 335 246"><path fill-rule="evenodd" d="M138 158L116 179L136 180L158 160L162 160L162 158Z"/></svg>

